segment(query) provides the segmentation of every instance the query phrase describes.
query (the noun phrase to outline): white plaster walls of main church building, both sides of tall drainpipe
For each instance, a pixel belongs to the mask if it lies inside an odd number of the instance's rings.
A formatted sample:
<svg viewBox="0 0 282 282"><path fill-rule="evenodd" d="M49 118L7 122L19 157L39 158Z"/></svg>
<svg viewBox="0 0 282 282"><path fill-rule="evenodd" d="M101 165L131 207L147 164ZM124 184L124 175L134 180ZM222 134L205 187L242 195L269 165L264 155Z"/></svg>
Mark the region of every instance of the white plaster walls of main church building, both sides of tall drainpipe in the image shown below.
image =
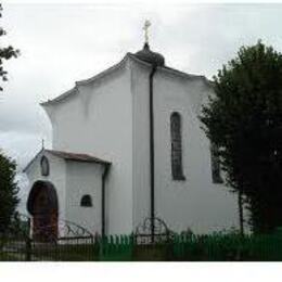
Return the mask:
<svg viewBox="0 0 282 282"><path fill-rule="evenodd" d="M119 69L79 85L75 94L46 106L54 150L112 162L105 191L106 233L130 233L150 216L150 65L128 59ZM175 231L191 228L205 233L238 226L239 221L236 196L211 183L209 142L196 117L200 98L210 91L203 81L165 69L158 69L154 77L156 215ZM171 179L169 116L174 111L182 116L185 181ZM82 169L78 170L82 176ZM77 184L84 181L78 178ZM69 220L74 221L72 213Z"/></svg>

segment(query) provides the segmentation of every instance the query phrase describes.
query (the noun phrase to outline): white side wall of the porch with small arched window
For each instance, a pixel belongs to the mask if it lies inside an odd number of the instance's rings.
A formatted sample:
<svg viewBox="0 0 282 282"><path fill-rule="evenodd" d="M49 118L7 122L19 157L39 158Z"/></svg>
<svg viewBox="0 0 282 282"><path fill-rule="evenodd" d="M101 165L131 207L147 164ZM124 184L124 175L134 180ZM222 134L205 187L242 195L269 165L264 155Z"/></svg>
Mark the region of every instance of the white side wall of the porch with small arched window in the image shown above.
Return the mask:
<svg viewBox="0 0 282 282"><path fill-rule="evenodd" d="M104 168L94 163L66 162L66 219L92 234L101 234L102 174ZM80 206L81 197L89 194L92 207Z"/></svg>

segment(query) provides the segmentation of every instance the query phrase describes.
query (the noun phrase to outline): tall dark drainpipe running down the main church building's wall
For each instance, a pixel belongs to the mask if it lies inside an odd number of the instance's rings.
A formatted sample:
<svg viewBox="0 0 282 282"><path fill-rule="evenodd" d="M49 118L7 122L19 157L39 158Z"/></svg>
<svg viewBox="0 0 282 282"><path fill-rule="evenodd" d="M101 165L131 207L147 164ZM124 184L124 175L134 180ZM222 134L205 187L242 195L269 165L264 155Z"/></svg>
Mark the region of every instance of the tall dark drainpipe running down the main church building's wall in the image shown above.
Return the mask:
<svg viewBox="0 0 282 282"><path fill-rule="evenodd" d="M149 103L150 103L150 180L151 180L151 235L154 242L154 218L155 218L155 145L154 145L154 75L156 65L153 65L149 76Z"/></svg>

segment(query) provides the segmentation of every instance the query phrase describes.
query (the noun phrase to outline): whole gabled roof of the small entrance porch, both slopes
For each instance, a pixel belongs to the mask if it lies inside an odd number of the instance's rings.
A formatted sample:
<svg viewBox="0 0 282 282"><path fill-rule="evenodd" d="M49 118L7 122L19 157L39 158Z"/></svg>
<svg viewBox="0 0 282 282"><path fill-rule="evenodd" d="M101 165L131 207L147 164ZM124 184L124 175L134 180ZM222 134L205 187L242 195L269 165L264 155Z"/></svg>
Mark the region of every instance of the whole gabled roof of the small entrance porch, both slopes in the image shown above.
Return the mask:
<svg viewBox="0 0 282 282"><path fill-rule="evenodd" d="M95 164L101 164L101 165L105 165L105 166L110 166L111 162L98 158L95 156L92 155L88 155L88 154L80 154L80 153L73 153L73 152L65 152L65 151L56 151L56 150L46 150L46 149L41 149L36 156L26 165L26 167L23 169L23 172L25 172L30 166L31 164L35 162L35 159L40 155L40 154L51 154L53 156L63 158L65 161L74 161L74 162L84 162L84 163L95 163Z"/></svg>

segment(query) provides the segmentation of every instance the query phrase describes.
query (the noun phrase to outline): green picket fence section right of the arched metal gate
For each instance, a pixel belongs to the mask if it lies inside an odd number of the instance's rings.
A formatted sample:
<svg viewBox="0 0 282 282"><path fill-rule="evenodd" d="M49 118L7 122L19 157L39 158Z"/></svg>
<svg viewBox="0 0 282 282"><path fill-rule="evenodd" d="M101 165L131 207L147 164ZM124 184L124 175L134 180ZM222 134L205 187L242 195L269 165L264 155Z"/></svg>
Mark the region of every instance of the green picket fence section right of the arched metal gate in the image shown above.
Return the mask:
<svg viewBox="0 0 282 282"><path fill-rule="evenodd" d="M172 258L188 261L282 261L282 236L176 236Z"/></svg>

